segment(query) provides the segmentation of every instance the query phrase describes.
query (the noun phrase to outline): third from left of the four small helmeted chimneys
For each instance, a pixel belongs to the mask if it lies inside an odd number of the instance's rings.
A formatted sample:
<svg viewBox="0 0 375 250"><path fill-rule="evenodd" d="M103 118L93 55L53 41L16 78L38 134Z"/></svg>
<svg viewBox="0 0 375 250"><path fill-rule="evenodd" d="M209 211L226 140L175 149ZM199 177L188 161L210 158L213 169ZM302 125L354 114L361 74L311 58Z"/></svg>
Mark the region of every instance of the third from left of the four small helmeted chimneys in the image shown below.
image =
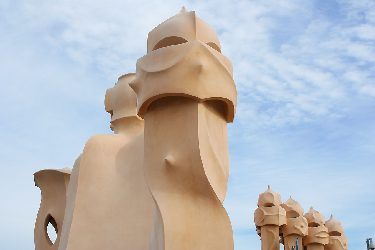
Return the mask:
<svg viewBox="0 0 375 250"><path fill-rule="evenodd" d="M324 226L324 216L311 207L303 217L307 219L309 225L309 233L303 237L306 250L323 250L324 245L328 244L328 230Z"/></svg>

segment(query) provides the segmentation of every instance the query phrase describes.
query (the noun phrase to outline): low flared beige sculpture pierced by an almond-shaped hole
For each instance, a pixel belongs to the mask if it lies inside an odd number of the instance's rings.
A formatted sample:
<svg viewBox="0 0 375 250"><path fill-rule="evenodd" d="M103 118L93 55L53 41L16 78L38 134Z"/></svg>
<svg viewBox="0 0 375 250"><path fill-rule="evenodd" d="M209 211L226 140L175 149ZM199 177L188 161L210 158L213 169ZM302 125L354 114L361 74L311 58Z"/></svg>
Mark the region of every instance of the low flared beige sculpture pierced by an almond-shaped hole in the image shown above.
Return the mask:
<svg viewBox="0 0 375 250"><path fill-rule="evenodd" d="M71 171L70 168L43 169L34 174L35 186L39 187L42 193L34 230L36 250L57 250ZM54 243L48 237L48 223L52 224L57 234Z"/></svg>

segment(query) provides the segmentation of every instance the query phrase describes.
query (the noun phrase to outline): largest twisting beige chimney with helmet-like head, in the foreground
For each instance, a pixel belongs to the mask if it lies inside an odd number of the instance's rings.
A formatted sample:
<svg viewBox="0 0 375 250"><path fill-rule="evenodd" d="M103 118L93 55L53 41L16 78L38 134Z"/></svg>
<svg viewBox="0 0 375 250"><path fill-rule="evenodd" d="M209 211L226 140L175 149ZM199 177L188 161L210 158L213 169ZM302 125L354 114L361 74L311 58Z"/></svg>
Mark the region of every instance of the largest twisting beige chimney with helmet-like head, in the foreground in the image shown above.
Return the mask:
<svg viewBox="0 0 375 250"><path fill-rule="evenodd" d="M217 34L183 7L150 31L129 85L145 119L144 174L156 204L150 250L233 249L222 202L237 90Z"/></svg>

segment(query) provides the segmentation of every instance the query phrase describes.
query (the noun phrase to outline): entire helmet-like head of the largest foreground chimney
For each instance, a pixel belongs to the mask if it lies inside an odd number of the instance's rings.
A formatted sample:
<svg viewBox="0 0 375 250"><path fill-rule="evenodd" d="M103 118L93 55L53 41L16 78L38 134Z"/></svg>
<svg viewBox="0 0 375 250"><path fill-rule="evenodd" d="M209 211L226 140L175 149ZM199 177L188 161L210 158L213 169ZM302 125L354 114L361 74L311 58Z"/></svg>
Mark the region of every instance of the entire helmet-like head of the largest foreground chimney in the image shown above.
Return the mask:
<svg viewBox="0 0 375 250"><path fill-rule="evenodd" d="M137 60L129 83L138 99L137 114L167 96L198 102L221 100L227 122L233 122L237 89L231 61L221 54L219 38L207 22L185 8L148 33L147 54Z"/></svg>

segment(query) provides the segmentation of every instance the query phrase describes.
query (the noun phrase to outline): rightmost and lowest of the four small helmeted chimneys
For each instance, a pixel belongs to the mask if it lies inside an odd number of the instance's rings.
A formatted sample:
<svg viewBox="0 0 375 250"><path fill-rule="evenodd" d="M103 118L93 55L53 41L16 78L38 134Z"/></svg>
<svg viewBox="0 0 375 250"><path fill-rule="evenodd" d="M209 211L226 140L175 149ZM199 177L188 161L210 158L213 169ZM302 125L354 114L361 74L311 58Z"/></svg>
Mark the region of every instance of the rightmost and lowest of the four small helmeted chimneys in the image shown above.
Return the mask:
<svg viewBox="0 0 375 250"><path fill-rule="evenodd" d="M329 243L324 245L324 250L348 250L348 239L344 235L344 228L341 222L331 218L324 224L328 229Z"/></svg>

